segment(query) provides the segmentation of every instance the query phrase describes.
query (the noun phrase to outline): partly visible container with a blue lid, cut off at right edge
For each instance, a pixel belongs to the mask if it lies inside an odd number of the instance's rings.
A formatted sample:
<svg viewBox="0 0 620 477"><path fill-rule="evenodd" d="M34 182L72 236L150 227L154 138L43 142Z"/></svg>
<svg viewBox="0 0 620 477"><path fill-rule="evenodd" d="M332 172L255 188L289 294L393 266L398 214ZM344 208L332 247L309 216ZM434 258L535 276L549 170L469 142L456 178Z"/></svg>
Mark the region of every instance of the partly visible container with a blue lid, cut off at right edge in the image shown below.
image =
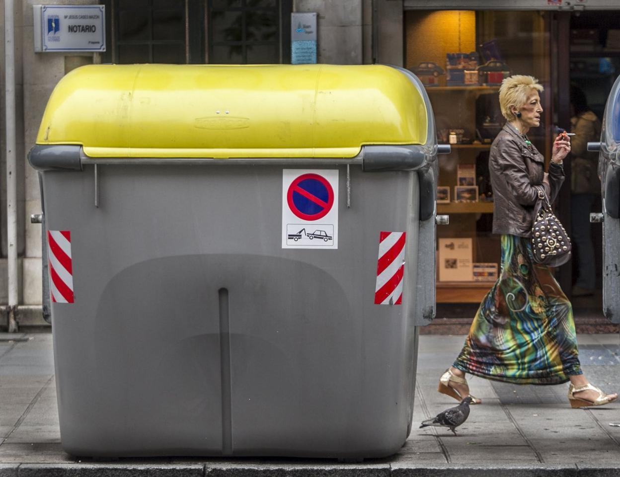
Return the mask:
<svg viewBox="0 0 620 477"><path fill-rule="evenodd" d="M611 88L600 143L588 143L588 151L599 151L603 212L591 221L603 222L603 313L620 323L620 77Z"/></svg>

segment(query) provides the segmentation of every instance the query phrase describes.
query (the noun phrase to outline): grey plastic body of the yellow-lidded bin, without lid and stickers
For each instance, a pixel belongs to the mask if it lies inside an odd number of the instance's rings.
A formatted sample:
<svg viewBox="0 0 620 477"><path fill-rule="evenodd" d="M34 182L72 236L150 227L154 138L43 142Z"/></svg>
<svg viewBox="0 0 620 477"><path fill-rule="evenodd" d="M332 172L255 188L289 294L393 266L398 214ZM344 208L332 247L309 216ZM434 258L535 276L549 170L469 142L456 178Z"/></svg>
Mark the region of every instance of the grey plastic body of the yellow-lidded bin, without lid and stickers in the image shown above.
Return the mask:
<svg viewBox="0 0 620 477"><path fill-rule="evenodd" d="M68 453L370 458L404 444L416 326L434 313L416 296L420 262L434 287L420 197L436 176L343 158L95 166L80 147L81 170L40 172L47 230L71 233L74 303L51 306ZM281 247L283 169L339 171L337 250ZM406 233L402 305L374 304L381 231Z"/></svg>

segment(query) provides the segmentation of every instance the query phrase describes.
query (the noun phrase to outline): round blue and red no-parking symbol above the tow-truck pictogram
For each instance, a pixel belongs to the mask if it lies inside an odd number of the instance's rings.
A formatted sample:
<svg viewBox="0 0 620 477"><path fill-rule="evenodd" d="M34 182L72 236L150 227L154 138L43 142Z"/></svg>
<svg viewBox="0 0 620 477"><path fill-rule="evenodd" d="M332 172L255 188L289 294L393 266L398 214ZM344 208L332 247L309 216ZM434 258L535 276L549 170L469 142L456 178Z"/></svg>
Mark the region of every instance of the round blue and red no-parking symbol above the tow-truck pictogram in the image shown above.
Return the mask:
<svg viewBox="0 0 620 477"><path fill-rule="evenodd" d="M302 220L319 220L332 210L334 189L319 174L302 174L288 187L286 202L291 212Z"/></svg>

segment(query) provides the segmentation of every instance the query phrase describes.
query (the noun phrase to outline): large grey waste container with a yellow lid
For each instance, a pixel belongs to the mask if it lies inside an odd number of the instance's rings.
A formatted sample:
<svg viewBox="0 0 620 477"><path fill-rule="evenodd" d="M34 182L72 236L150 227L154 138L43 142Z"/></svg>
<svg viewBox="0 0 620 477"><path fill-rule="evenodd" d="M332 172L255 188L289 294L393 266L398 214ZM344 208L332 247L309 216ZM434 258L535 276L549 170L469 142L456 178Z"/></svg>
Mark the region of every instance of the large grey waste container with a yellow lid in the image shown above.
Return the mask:
<svg viewBox="0 0 620 477"><path fill-rule="evenodd" d="M69 73L29 156L63 448L396 452L435 314L437 151L404 69Z"/></svg>

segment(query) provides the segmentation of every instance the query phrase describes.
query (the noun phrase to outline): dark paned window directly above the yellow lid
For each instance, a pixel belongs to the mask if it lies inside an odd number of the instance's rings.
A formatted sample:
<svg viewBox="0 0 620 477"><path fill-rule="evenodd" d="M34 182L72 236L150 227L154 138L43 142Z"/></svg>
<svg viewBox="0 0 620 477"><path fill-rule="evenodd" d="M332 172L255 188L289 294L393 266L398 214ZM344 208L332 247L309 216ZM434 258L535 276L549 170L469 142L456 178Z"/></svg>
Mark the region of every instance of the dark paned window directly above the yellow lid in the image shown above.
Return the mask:
<svg viewBox="0 0 620 477"><path fill-rule="evenodd" d="M105 63L290 62L292 0L103 3Z"/></svg>

